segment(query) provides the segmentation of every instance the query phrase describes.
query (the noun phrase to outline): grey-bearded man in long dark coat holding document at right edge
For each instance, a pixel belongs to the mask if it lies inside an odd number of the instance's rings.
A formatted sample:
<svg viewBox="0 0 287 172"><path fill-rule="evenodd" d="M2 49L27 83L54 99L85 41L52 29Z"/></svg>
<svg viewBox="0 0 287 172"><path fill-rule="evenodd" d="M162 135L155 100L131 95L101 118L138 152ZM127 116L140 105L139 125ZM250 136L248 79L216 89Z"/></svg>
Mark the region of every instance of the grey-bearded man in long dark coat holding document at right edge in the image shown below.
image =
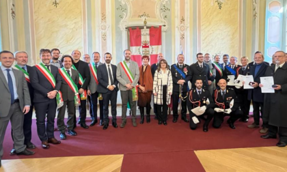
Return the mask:
<svg viewBox="0 0 287 172"><path fill-rule="evenodd" d="M269 132L263 135L263 139L276 139L277 132L279 134L278 147L285 147L287 144L287 115L286 115L286 102L287 102L287 63L285 62L285 53L277 51L274 55L276 64L270 66L265 76L273 76L274 93L268 94L264 98L264 113L269 115ZM266 87L263 83L260 84L261 88ZM269 98L269 99L267 99ZM265 116L265 114L264 114Z"/></svg>

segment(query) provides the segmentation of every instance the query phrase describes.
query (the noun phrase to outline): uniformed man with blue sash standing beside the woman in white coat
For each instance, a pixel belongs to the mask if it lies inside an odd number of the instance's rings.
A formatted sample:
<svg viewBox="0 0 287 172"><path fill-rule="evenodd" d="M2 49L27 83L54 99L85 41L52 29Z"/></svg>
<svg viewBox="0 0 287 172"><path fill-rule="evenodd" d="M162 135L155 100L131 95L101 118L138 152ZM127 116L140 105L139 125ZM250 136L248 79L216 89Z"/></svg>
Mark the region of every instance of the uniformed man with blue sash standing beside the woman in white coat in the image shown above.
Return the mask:
<svg viewBox="0 0 287 172"><path fill-rule="evenodd" d="M184 64L184 55L178 55L178 63L172 65L172 109L175 123L178 121L178 99L181 98L181 118L185 122L187 119L187 91L189 91L189 80L191 80L191 70Z"/></svg>

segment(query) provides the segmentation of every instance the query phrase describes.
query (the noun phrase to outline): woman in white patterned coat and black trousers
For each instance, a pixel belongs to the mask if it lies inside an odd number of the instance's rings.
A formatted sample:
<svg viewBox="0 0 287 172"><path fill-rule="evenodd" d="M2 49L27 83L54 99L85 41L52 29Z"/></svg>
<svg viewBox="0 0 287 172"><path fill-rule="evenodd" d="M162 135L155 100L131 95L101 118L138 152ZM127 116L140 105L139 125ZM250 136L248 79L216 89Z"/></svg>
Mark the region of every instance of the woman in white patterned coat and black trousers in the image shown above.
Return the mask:
<svg viewBox="0 0 287 172"><path fill-rule="evenodd" d="M159 125L167 125L167 106L172 95L172 72L167 68L167 61L161 59L159 67L154 73L153 94Z"/></svg>

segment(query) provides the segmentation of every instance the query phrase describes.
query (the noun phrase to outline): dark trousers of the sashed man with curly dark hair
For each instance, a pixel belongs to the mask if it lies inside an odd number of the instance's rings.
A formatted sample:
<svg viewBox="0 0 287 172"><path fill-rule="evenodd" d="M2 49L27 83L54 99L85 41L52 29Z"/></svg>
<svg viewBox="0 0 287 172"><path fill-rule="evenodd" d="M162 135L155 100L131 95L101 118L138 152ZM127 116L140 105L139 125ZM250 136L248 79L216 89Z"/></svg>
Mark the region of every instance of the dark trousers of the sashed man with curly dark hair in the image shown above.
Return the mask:
<svg viewBox="0 0 287 172"><path fill-rule="evenodd" d="M74 127L74 116L76 115L76 109L74 108L74 100L72 101L64 101L63 106L58 111L57 116L57 128L61 132L64 132L66 126L64 122L64 117L66 113L66 106L68 107L68 121L67 121L67 128L68 130L72 130Z"/></svg>

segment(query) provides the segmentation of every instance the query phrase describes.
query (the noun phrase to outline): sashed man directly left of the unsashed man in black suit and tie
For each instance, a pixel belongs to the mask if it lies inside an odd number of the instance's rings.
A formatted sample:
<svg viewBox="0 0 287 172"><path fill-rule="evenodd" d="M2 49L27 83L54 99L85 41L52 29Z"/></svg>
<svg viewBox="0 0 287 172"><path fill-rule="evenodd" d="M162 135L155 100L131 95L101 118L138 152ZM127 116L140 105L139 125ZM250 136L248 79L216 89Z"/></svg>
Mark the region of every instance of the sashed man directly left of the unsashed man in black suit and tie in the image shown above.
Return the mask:
<svg viewBox="0 0 287 172"><path fill-rule="evenodd" d="M98 67L102 65L100 63L100 53L93 53L93 63L89 64L91 80L87 87L87 95L91 97L92 102L92 123L90 126L94 126L98 122L98 103L100 104L100 126L104 125L103 104L102 95L98 93Z"/></svg>

